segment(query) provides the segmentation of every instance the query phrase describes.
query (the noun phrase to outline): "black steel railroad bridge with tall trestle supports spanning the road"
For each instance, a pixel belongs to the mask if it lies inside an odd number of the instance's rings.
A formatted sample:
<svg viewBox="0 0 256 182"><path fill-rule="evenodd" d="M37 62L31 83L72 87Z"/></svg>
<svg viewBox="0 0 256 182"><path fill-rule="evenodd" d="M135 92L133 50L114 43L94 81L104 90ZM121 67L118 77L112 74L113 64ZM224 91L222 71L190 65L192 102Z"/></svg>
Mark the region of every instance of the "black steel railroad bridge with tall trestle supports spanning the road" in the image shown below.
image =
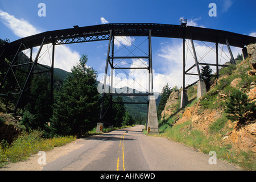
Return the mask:
<svg viewBox="0 0 256 182"><path fill-rule="evenodd" d="M114 55L114 40L117 36L145 36L148 38L148 53L146 56L115 56ZM46 44L52 44L52 60L51 67L48 68L48 71L51 73L51 95L53 95L53 67L55 58L55 46L61 44L72 44L72 43L84 43L84 42L95 42L100 40L108 40L108 53L106 57L106 67L105 74L108 73L108 68L112 69L146 69L148 71L148 89L146 93L115 93L115 92L103 92L102 97L104 98L106 95L112 96L154 96L153 92L153 80L152 80L152 49L151 49L151 37L162 37L162 38L176 38L183 39L183 92L181 94L181 107L184 107L187 104L187 94L186 89L189 86L195 85L200 86L201 94L198 97L201 97L205 93L205 86L203 84L203 79L201 78L199 65L210 65L216 67L216 75L218 76L219 67L224 67L225 65L219 64L218 61L218 44L224 44L228 47L230 53L230 60L232 60L233 64L236 64L230 46L242 48L243 56L247 56L246 46L251 43L256 43L256 38L252 36L236 34L234 32L222 31L222 30L214 30L210 28L201 28L201 27L192 27L187 26L186 23L182 22L180 25L174 24L156 24L156 23L114 23L114 24L100 24L96 26L86 26L79 27L74 26L73 28L68 28L64 30L56 30L56 31L47 31L40 34L28 36L26 38L22 38L19 40L15 40L14 42L7 43L0 47L0 64L5 61L5 57L14 55L13 60L10 60L10 67L7 70L5 76L3 77L0 85L0 96L6 96L10 93L2 93L2 86L5 84L5 81L8 79L10 74L15 73L13 69L18 68L22 65L30 64L30 70L27 73L27 79L24 85L19 85L19 89L11 94L19 95L18 101L16 103L16 107L14 109L14 113L16 112L20 98L22 98L24 91L27 89L28 82L31 76L34 74L34 68L38 63L38 58L40 56L40 52L42 51L42 47ZM186 69L185 68L185 40L188 39L191 41L191 47L193 49L193 57L195 59L195 64L192 67ZM208 63L199 63L197 60L195 46L193 44L193 40L199 40L203 42L215 43L216 48L216 64L208 64ZM32 50L34 47L39 47L38 52L36 53L35 59L32 59ZM16 63L18 52L24 51L26 49L30 49L30 63ZM114 60L117 59L146 59L147 67L141 68L120 68L115 67ZM41 65L41 64L40 64ZM44 66L44 65L42 65ZM197 69L197 74L189 73L192 68ZM191 85L185 86L185 75L197 75L199 80L194 82ZM113 76L113 74L111 74ZM18 82L18 81L17 81ZM106 85L106 76L104 78L104 85ZM112 85L110 85L112 86ZM52 97L52 96L51 96ZM148 98L150 98L148 97ZM151 110L151 100L143 104L148 105L148 120L150 120L152 115ZM152 107L155 107L153 103ZM154 108L156 110L156 108ZM106 112L105 112L106 113ZM104 118L104 109L103 102L101 107L101 120ZM154 113L154 112L153 112ZM158 126L153 126L151 123L153 121L148 121L148 127L151 127L150 131L158 132ZM157 125L157 120L156 122ZM157 131L156 128L157 127ZM155 130L154 130L155 129Z"/></svg>

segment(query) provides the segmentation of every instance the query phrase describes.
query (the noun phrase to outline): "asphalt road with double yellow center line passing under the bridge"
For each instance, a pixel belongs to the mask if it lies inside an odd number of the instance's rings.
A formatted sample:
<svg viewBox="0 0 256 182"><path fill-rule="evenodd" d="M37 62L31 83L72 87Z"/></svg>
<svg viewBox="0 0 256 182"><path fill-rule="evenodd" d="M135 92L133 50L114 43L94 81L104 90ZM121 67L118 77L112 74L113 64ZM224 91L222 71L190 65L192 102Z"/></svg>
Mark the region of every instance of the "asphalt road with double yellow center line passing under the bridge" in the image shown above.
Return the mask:
<svg viewBox="0 0 256 182"><path fill-rule="evenodd" d="M144 126L115 130L79 140L76 149L47 163L43 170L164 171L239 170L221 160L162 137L146 137Z"/></svg>

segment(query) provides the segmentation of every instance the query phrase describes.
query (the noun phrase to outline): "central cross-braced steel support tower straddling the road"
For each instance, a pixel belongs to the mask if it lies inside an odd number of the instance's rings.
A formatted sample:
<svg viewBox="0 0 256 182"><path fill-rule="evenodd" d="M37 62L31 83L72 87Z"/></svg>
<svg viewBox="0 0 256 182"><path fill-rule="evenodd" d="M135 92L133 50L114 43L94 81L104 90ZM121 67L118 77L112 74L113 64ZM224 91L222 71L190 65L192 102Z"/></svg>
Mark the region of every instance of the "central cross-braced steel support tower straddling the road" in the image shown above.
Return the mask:
<svg viewBox="0 0 256 182"><path fill-rule="evenodd" d="M143 35L145 36L145 35ZM109 111L109 108L111 108L112 104L119 104L119 102L112 102L112 98L113 96L141 96L141 97L148 97L148 101L145 102L123 102L124 104L147 104L147 108L149 107L150 104L150 100L149 98L151 98L152 96L154 97L154 92L153 92L153 75L152 75L152 47L151 47L151 30L148 30L147 32L147 39L148 39L148 50L146 55L135 55L132 51L130 51L129 55L115 55L115 41L118 35L115 35L113 30L110 30L110 36L109 36L109 43L108 43L108 52L107 52L107 56L106 56L106 65L105 65L105 75L104 75L104 83L102 85L102 101L101 101L101 113L100 113L100 122L101 123L106 123L106 124L110 124L108 121L104 121L104 116L106 114L106 112ZM119 36L120 37L120 36ZM132 43L130 43L132 44ZM124 46L126 47L126 46ZM135 49L138 49L138 47L136 47ZM134 51L134 50L133 50ZM123 66L118 66L118 63L120 63L123 60L145 60L145 62L147 63L147 65L143 65L143 67L141 65L138 65L137 67L127 67L127 65ZM118 63L117 63L118 62ZM110 68L110 71L109 71ZM142 70L146 70L147 72L147 89L144 92L139 92L139 93L135 93L134 92L134 88L128 88L125 87L124 88L118 88L118 92L117 92L117 88L115 88L115 86L113 85L113 80L114 78L114 72L117 69L122 69L124 70L136 70L136 69L142 69ZM108 76L110 75L110 76ZM127 75L127 77L129 77L129 75ZM109 84L107 83L107 78L109 78L110 82ZM121 93L120 93L121 91ZM110 106L107 108L104 108L104 100L106 99L106 96L110 96ZM151 97L150 97L151 96ZM156 108L155 108L156 110ZM147 110L147 115L148 112L150 112L150 110Z"/></svg>

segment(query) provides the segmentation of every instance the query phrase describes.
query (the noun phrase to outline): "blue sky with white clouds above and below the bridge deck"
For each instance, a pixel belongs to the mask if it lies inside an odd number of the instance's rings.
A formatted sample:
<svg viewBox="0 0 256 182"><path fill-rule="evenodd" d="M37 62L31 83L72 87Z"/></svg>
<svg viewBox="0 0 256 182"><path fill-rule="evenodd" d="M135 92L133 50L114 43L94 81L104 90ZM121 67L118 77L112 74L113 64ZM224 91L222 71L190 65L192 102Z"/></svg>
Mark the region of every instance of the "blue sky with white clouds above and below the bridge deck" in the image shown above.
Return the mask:
<svg viewBox="0 0 256 182"><path fill-rule="evenodd" d="M46 16L38 16L39 3L45 3ZM209 3L216 3L217 16L210 17ZM12 41L39 32L72 28L74 25L91 26L102 23L166 23L179 24L187 18L188 25L232 31L256 36L255 0L86 0L86 1L35 1L0 0L0 38ZM134 38L127 38L133 40ZM182 84L182 42L179 39L152 39L152 55L157 91L168 82L171 86ZM98 73L105 70L108 42L82 43L56 48L55 67L70 71L82 54L89 57L88 65ZM136 44L136 43L134 43ZM207 46L195 42L202 56ZM212 44L209 44L212 47ZM208 47L209 48L209 47ZM234 56L240 48L232 48ZM226 49L224 48L224 51ZM228 53L226 53L228 55ZM212 59L214 52L209 53ZM213 60L215 57L213 57ZM228 60L228 58L226 58ZM193 63L188 56L188 65ZM223 59L224 61L225 59ZM186 82L196 78L187 77Z"/></svg>

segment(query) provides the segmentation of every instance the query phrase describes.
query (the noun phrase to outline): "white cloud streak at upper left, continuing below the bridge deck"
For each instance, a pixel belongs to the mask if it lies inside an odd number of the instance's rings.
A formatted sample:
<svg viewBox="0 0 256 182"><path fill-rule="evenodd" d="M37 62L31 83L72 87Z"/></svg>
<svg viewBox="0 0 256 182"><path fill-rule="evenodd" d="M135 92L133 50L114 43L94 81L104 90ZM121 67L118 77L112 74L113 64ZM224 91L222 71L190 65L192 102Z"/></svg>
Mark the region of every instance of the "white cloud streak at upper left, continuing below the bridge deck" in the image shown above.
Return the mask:
<svg viewBox="0 0 256 182"><path fill-rule="evenodd" d="M2 19L2 22L10 28L11 31L16 36L19 36L20 38L24 38L26 36L39 34L40 31L37 30L32 24L27 22L24 19L18 19L15 18L15 16L10 15L6 13L5 11L0 10L0 19ZM51 65L51 53L47 52L47 49L51 45L44 45L43 49L40 53L39 63L40 64L47 64ZM34 57L36 55L36 52L38 51L38 47L34 48ZM27 52L27 51L24 51ZM27 55L29 56L29 55ZM76 65L76 63L79 61L80 55L79 52L72 51L71 48L68 46L55 46L55 67L64 69L65 71L71 71L71 68L73 65Z"/></svg>

